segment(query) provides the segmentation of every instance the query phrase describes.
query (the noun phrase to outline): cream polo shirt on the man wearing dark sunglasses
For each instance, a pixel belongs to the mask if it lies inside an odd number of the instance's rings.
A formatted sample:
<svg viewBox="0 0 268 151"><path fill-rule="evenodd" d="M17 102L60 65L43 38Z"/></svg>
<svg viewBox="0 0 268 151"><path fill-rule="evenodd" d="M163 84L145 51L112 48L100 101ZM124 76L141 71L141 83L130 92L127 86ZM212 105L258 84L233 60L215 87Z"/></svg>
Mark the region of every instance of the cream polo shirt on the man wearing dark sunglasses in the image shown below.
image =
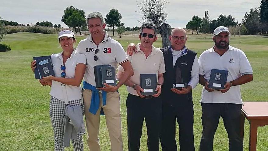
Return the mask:
<svg viewBox="0 0 268 151"><path fill-rule="evenodd" d="M137 53L134 53L133 56L127 55L134 71L129 80L140 85L140 74L156 74L158 81L158 74L166 72L163 52L152 46L152 52L146 58L144 52L139 49L139 44L136 45L136 50ZM124 72L122 66L118 66L118 70ZM127 91L132 95L139 96L132 87L127 86Z"/></svg>

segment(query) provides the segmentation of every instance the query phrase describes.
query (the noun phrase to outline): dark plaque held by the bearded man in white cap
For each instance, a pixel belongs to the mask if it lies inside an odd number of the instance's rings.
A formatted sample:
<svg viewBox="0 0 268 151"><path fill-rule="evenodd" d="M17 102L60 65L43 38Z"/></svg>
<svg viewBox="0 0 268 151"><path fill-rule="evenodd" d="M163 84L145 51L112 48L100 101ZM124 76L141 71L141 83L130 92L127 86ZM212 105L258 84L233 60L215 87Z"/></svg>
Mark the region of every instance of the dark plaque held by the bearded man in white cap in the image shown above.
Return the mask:
<svg viewBox="0 0 268 151"><path fill-rule="evenodd" d="M227 81L227 76L227 70L211 69L208 87L213 88L215 90L224 89L224 85Z"/></svg>

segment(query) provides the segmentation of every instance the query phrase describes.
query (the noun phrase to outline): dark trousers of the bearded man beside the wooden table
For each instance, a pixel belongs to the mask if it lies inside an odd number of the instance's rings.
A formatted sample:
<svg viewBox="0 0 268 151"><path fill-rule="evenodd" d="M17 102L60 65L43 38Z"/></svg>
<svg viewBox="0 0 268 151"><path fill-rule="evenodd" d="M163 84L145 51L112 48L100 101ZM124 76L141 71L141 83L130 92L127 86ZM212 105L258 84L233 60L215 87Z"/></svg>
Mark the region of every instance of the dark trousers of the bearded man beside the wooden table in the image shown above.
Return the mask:
<svg viewBox="0 0 268 151"><path fill-rule="evenodd" d="M243 142L240 137L242 104L201 103L201 106L203 132L199 150L212 151L214 135L221 116L229 138L229 150L243 151Z"/></svg>

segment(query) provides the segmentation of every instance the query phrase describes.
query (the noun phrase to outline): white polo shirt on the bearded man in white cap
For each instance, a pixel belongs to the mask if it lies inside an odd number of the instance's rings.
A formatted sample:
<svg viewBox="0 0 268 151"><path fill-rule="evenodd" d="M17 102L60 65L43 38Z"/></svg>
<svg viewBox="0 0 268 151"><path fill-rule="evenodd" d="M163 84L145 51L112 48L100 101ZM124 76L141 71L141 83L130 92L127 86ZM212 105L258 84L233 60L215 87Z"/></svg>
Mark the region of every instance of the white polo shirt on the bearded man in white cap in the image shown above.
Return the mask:
<svg viewBox="0 0 268 151"><path fill-rule="evenodd" d="M213 46L214 47L214 46ZM198 60L199 74L210 80L211 69L228 70L227 82L233 81L244 74L253 74L252 67L245 53L229 45L229 49L220 56L214 49L204 51ZM242 104L240 85L232 86L227 92L207 92L203 87L202 103L234 103Z"/></svg>

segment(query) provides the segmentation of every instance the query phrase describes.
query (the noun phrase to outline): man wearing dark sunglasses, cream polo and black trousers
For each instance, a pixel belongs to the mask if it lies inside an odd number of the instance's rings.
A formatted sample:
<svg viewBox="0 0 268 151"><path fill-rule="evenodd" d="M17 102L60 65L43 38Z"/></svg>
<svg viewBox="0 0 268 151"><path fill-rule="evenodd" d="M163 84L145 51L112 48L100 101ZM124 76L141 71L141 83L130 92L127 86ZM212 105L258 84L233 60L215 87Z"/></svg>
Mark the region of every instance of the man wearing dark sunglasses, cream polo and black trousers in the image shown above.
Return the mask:
<svg viewBox="0 0 268 151"><path fill-rule="evenodd" d="M165 64L163 52L153 47L157 40L157 27L153 23L144 23L141 27L140 44L136 45L137 53L128 56L134 75L124 84L129 92L127 106L129 150L138 151L142 134L143 120L147 126L147 146L149 151L159 150L159 138L162 120L162 100L158 97L164 82ZM125 70L118 66L117 77L121 80ZM143 96L140 86L140 74L157 74L157 94Z"/></svg>

